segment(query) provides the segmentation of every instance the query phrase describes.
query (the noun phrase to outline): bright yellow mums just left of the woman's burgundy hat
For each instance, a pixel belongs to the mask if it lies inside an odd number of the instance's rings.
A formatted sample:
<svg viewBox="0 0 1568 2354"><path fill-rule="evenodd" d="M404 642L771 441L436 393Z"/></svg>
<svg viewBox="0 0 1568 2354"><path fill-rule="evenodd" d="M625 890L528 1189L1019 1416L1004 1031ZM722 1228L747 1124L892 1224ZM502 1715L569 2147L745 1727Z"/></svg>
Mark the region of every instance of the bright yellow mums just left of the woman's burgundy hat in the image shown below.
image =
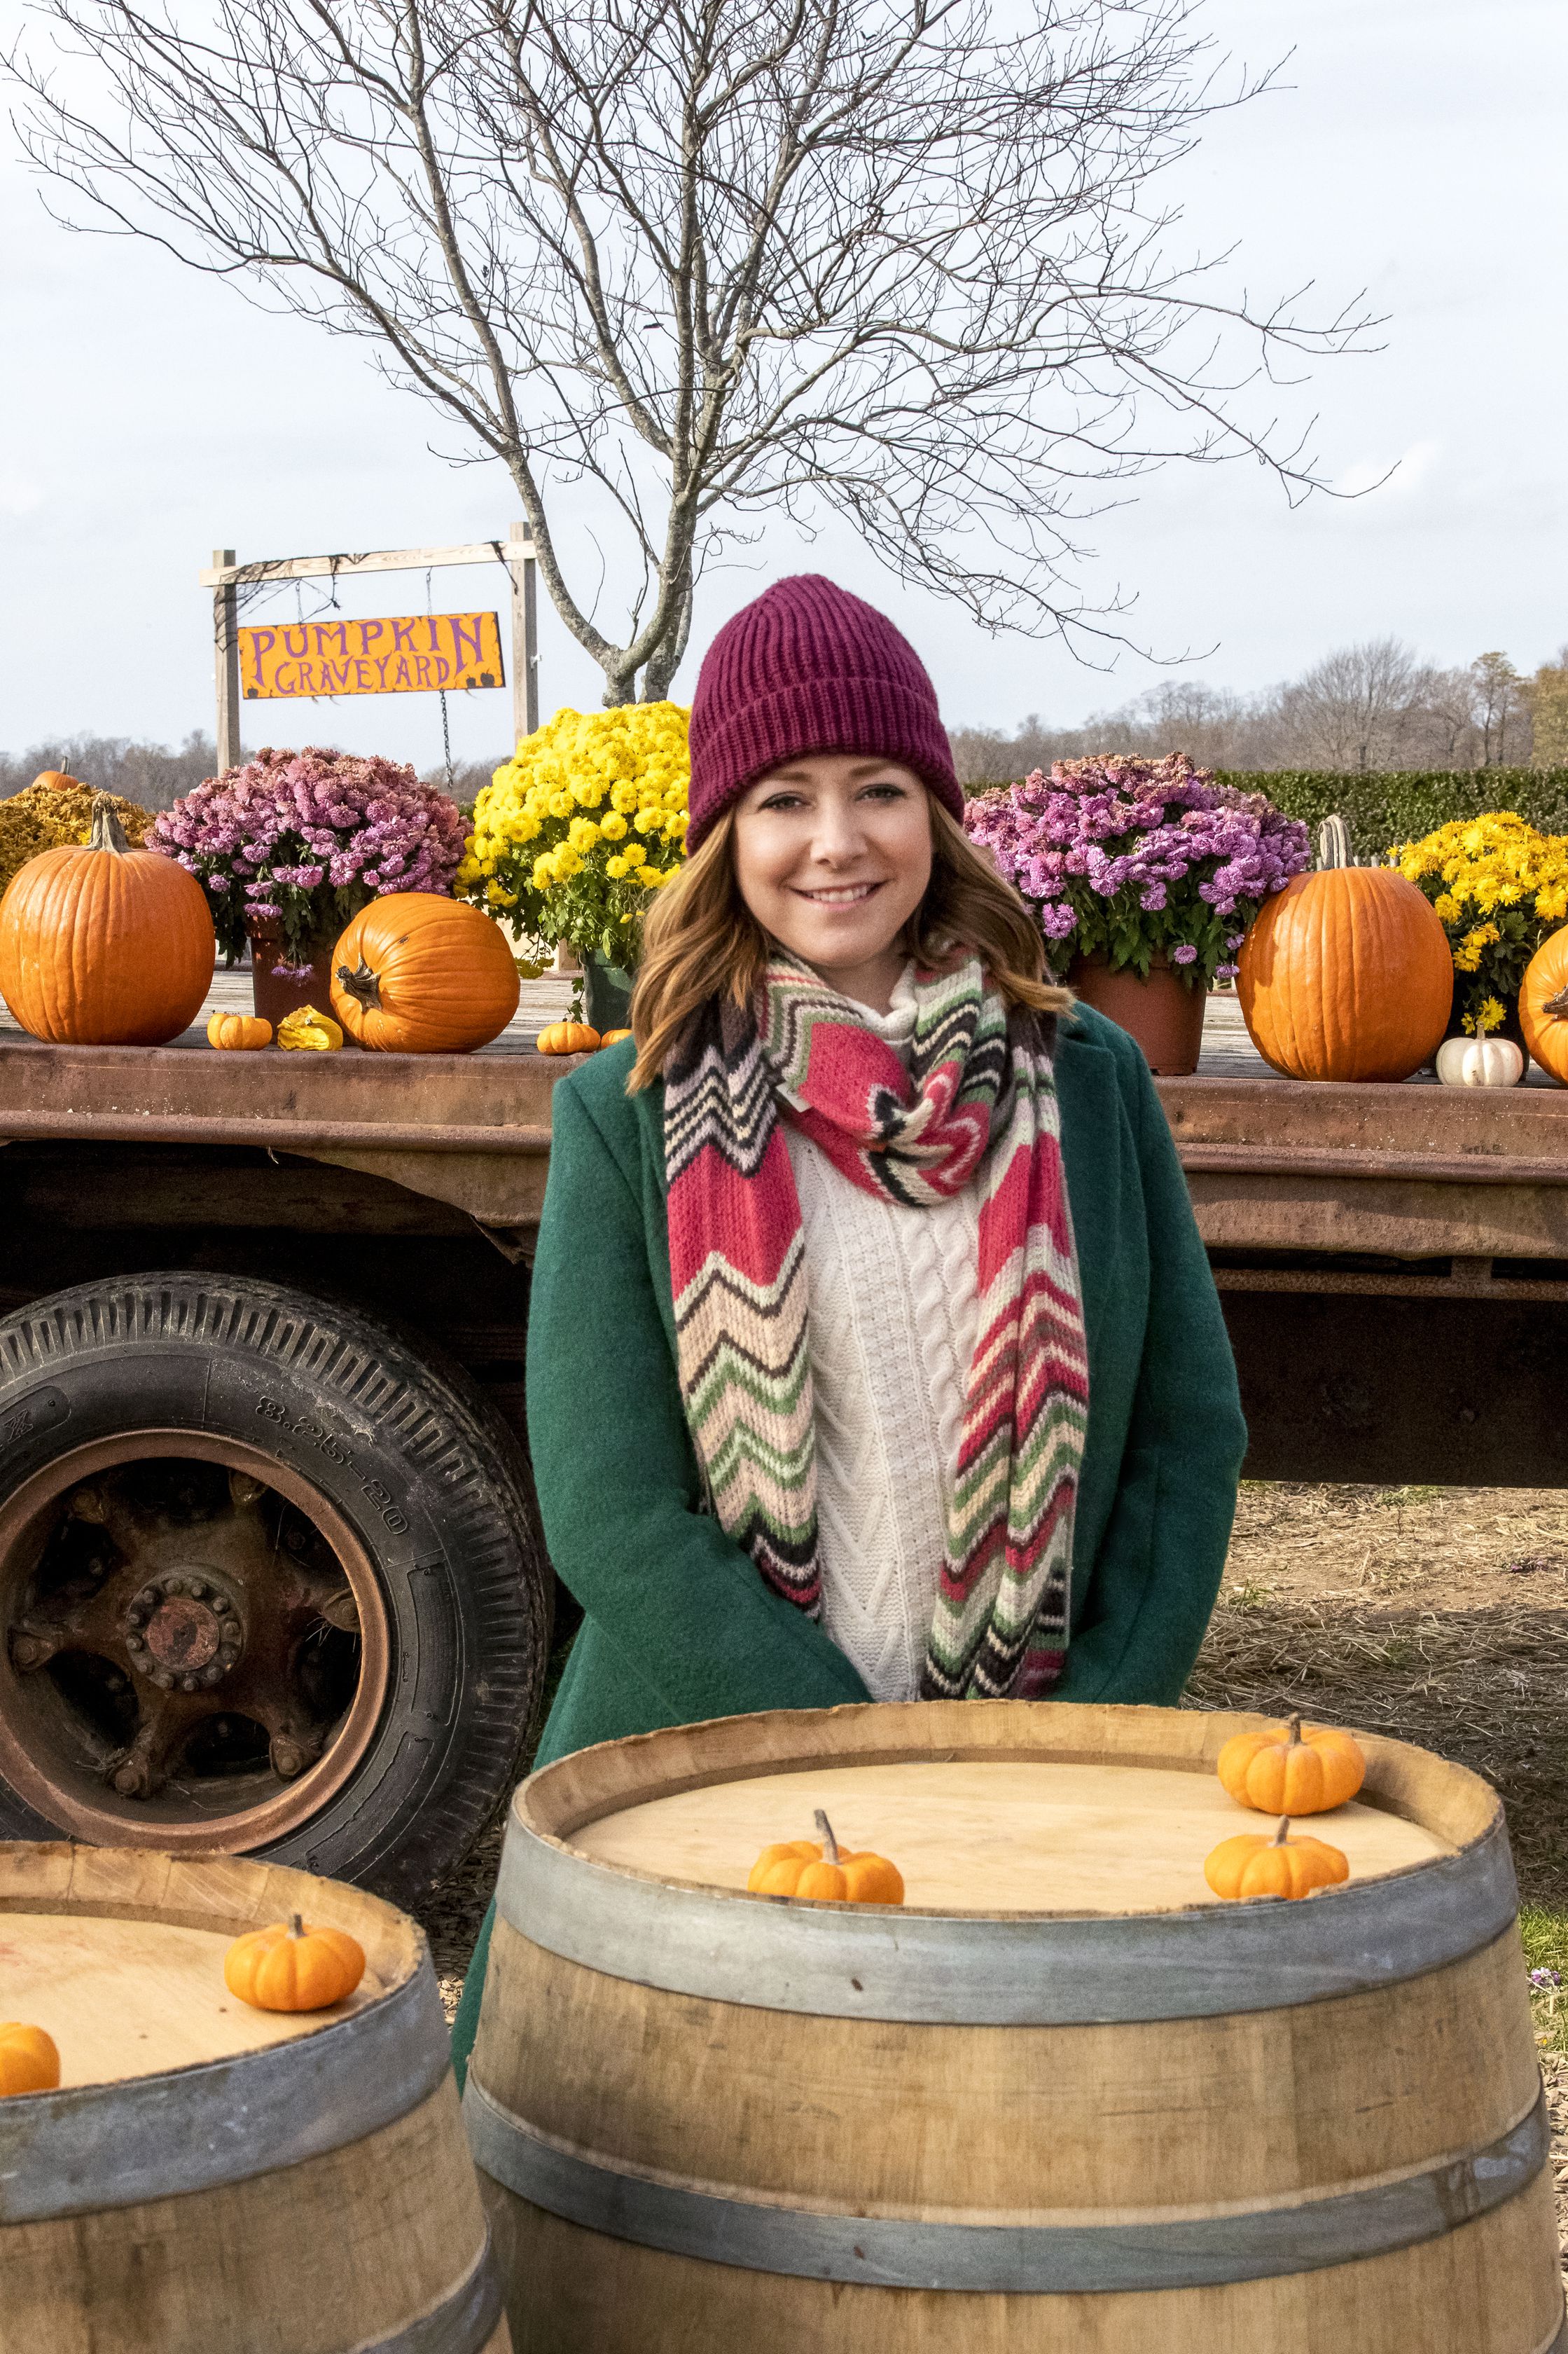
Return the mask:
<svg viewBox="0 0 1568 2354"><path fill-rule="evenodd" d="M685 857L680 704L558 711L473 803L457 887L542 944L631 970L643 911Z"/></svg>

